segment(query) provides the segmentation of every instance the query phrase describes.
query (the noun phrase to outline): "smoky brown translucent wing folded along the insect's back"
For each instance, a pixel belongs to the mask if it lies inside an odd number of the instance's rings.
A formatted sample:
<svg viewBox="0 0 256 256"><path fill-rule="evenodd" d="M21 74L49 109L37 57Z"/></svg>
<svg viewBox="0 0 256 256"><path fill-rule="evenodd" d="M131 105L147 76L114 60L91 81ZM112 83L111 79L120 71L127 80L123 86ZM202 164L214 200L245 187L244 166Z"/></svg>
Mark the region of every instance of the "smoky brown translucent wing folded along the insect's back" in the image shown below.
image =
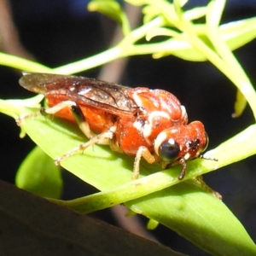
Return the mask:
<svg viewBox="0 0 256 256"><path fill-rule="evenodd" d="M24 73L20 85L44 96L63 97L108 113L132 115L137 104L128 96L129 87L102 80L49 73Z"/></svg>

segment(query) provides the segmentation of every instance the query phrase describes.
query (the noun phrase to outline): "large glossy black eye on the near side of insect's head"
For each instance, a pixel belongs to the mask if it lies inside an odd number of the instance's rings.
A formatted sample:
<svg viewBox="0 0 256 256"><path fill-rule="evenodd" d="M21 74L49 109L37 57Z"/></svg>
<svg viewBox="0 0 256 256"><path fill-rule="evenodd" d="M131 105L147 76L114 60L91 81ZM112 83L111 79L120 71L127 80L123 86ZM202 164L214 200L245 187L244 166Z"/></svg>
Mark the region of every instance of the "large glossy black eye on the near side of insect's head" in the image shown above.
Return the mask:
<svg viewBox="0 0 256 256"><path fill-rule="evenodd" d="M168 141L160 144L158 154L161 160L164 160L165 162L172 162L177 159L179 151L178 143L173 139L169 139Z"/></svg>

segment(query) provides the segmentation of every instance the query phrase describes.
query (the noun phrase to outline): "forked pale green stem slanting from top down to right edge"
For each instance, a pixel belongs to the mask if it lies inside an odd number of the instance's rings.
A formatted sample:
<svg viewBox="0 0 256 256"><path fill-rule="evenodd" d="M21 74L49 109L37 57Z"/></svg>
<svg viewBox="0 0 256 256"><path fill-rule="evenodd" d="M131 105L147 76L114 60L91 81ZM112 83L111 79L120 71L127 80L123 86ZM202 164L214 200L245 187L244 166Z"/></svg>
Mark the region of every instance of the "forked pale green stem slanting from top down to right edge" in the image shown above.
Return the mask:
<svg viewBox="0 0 256 256"><path fill-rule="evenodd" d="M247 78L247 74L244 72L239 62L236 60L236 57L221 38L219 32L219 21L224 10L224 4L224 0L216 0L211 1L207 6L206 31L214 49L198 37L195 25L190 20L183 18L183 10L180 7L179 1L174 1L177 20L173 19L173 16L167 9L161 9L161 11L170 24L175 25L178 30L188 36L189 44L192 44L195 49L201 51L208 61L211 61L215 67L236 85L247 99L247 102L253 110L254 118L256 119L256 93L253 89L253 85ZM155 8L157 8L157 6L155 6ZM173 20L175 20L175 22Z"/></svg>

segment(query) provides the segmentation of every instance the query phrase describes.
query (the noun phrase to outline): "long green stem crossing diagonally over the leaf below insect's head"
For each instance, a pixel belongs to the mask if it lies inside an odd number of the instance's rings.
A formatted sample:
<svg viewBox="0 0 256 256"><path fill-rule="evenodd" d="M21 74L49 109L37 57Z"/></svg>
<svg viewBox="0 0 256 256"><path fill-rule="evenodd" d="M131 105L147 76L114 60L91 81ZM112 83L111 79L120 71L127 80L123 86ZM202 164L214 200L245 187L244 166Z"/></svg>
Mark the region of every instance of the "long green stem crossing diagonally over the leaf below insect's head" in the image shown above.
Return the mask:
<svg viewBox="0 0 256 256"><path fill-rule="evenodd" d="M207 157L214 156L218 161L194 160L188 162L189 172L186 174L183 181L193 179L207 172L212 172L220 167L230 165L231 163L255 154L255 133L256 125L251 125L235 137L219 145L218 148L207 152ZM245 145L247 145L246 148ZM241 150L241 148L243 148L243 150ZM154 174L141 177L130 183L125 183L107 192L100 192L71 201L53 199L49 199L49 201L54 201L61 206L71 208L81 213L95 212L175 185L180 182L177 179L178 172L180 172L180 166L173 166L170 170L155 172Z"/></svg>

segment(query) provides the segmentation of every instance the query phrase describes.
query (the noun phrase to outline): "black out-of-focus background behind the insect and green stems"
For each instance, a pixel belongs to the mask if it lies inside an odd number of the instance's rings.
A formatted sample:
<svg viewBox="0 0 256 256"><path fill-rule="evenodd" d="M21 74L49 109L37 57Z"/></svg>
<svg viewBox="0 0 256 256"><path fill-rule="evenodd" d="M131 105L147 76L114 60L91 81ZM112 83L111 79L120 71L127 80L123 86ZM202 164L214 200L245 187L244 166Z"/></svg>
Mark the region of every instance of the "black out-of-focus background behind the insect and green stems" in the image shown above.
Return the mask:
<svg viewBox="0 0 256 256"><path fill-rule="evenodd" d="M108 38L113 32L113 23L106 21L102 15L88 13L85 9L86 2L10 1L21 43L37 61L49 67L58 67L108 49ZM201 3L205 4L207 1L189 1L188 8ZM229 0L223 22L252 17L255 14L255 0ZM255 84L256 40L242 49L237 49L235 53ZM101 67L95 68L81 74L96 78L100 69ZM19 86L19 78L20 73L8 67L0 67L1 98L32 96L30 92ZM236 88L208 62L183 61L173 56L160 60L153 60L150 55L134 56L129 59L122 79L118 82L131 87L147 86L151 89L171 91L186 107L189 120L199 119L206 126L210 137L209 149L253 124L253 114L248 107L241 117L231 118ZM15 125L14 119L1 115L0 125L0 178L14 183L15 172L20 162L34 144L29 137L19 139L20 128ZM204 176L207 184L223 195L224 203L241 220L254 241L256 241L255 164L256 158L253 156ZM64 198L75 198L88 193L87 186L71 174L63 172L63 177ZM100 212L96 217L115 224L110 211ZM142 221L146 223L143 218ZM152 233L160 242L177 251L190 255L208 255L163 226Z"/></svg>

